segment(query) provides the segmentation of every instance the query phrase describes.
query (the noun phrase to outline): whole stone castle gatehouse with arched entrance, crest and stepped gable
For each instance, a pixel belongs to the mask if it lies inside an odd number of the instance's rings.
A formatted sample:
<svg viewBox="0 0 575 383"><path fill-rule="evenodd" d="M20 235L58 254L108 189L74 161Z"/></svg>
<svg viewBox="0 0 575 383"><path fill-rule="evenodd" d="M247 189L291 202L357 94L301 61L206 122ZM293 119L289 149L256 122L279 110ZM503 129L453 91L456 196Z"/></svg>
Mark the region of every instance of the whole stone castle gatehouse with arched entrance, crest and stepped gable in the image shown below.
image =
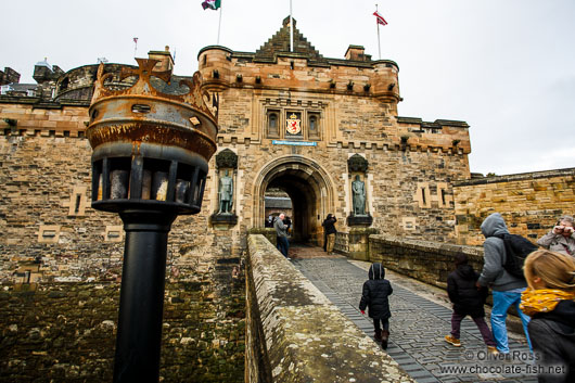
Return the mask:
<svg viewBox="0 0 575 383"><path fill-rule="evenodd" d="M468 125L399 117L395 62L372 61L361 46L349 46L345 59L324 58L295 20L291 51L289 21L254 53L209 46L197 55L203 87L217 100L219 152L238 157L227 170L239 227L223 229L240 238L240 228L264 227L266 193L277 189L292 201L295 240L321 242L329 213L343 230L372 225L407 234L422 221L450 220L447 180L469 178ZM358 156L366 165L349 165ZM225 169L214 168L208 199L216 213ZM426 168L443 169L438 182ZM349 219L356 179L365 184L367 218L359 220ZM439 219L423 210L432 208ZM444 235L452 231L443 226Z"/></svg>

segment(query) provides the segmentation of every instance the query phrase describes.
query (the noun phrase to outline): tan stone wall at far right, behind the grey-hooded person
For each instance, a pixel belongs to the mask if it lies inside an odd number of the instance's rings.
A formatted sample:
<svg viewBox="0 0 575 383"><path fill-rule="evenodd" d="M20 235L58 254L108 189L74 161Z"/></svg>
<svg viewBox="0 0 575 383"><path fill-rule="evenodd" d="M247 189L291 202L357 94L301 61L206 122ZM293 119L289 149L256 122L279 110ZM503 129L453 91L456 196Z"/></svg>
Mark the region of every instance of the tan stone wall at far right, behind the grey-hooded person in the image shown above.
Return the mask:
<svg viewBox="0 0 575 383"><path fill-rule="evenodd" d="M575 214L575 168L455 182L453 194L458 243L482 244L481 224L495 212L512 233L535 242L559 217Z"/></svg>

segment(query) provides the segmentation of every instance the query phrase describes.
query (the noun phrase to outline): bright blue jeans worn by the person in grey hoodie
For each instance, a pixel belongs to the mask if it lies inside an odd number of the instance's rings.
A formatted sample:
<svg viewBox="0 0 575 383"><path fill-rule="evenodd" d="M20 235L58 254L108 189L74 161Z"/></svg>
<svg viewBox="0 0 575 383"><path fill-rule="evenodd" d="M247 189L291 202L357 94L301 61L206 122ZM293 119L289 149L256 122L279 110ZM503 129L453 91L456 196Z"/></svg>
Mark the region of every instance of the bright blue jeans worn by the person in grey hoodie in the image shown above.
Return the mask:
<svg viewBox="0 0 575 383"><path fill-rule="evenodd" d="M529 340L529 333L527 331L527 323L531 318L523 314L519 308L521 303L521 293L525 289L515 289L509 291L495 291L494 294L494 307L491 309L491 331L494 332L495 342L497 343L497 349L499 353L508 354L509 353L509 342L507 339L507 310L511 305L515 305L518 314L523 323L523 331L527 337L527 344L529 349L533 353L532 342Z"/></svg>

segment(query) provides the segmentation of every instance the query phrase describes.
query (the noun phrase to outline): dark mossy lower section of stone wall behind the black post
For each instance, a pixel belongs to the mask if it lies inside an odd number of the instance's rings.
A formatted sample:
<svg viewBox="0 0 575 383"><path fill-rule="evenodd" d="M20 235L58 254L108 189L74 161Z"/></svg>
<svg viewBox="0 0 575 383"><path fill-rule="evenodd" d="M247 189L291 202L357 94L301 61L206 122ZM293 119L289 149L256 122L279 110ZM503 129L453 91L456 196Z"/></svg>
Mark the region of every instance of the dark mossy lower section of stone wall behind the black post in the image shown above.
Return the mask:
<svg viewBox="0 0 575 383"><path fill-rule="evenodd" d="M243 382L244 283L230 283L227 307L206 283L167 283L163 382ZM0 382L112 381L118 283L1 288Z"/></svg>

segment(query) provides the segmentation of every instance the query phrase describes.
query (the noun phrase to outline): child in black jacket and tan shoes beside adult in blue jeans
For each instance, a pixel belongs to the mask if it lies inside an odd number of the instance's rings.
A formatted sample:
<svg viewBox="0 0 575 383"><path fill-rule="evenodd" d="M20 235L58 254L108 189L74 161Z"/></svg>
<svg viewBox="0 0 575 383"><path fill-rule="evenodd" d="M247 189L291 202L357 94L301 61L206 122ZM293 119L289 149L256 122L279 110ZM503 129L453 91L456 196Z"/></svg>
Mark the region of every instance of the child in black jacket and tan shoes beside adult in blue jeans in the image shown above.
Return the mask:
<svg viewBox="0 0 575 383"><path fill-rule="evenodd" d="M456 347L461 346L460 329L461 321L468 315L473 319L480 330L487 349L491 354L498 354L491 331L485 323L485 299L487 288L477 288L475 283L480 276L468 264L465 254L456 255L456 270L447 276L447 294L453 304L451 315L451 334L445 336L445 341Z"/></svg>

